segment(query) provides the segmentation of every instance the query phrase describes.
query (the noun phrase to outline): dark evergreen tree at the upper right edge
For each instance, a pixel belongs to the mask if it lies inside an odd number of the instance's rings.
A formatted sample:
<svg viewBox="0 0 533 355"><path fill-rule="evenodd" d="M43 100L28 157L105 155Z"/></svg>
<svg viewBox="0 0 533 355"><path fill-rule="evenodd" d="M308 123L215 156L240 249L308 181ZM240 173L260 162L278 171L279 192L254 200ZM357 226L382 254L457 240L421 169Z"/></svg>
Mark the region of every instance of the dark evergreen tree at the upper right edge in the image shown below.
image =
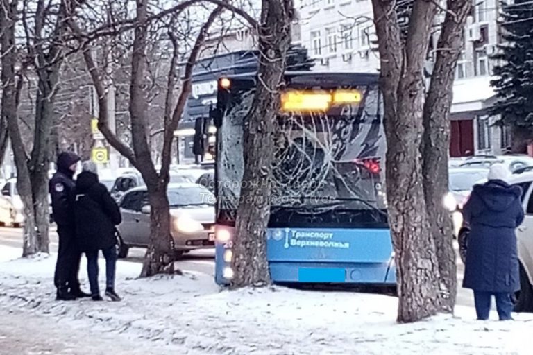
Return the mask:
<svg viewBox="0 0 533 355"><path fill-rule="evenodd" d="M505 44L493 59L500 60L494 67L498 78L491 81L498 101L489 113L500 116L498 124L512 129L513 150L525 153L527 142L533 137L533 3L516 0L502 4L502 22Z"/></svg>

